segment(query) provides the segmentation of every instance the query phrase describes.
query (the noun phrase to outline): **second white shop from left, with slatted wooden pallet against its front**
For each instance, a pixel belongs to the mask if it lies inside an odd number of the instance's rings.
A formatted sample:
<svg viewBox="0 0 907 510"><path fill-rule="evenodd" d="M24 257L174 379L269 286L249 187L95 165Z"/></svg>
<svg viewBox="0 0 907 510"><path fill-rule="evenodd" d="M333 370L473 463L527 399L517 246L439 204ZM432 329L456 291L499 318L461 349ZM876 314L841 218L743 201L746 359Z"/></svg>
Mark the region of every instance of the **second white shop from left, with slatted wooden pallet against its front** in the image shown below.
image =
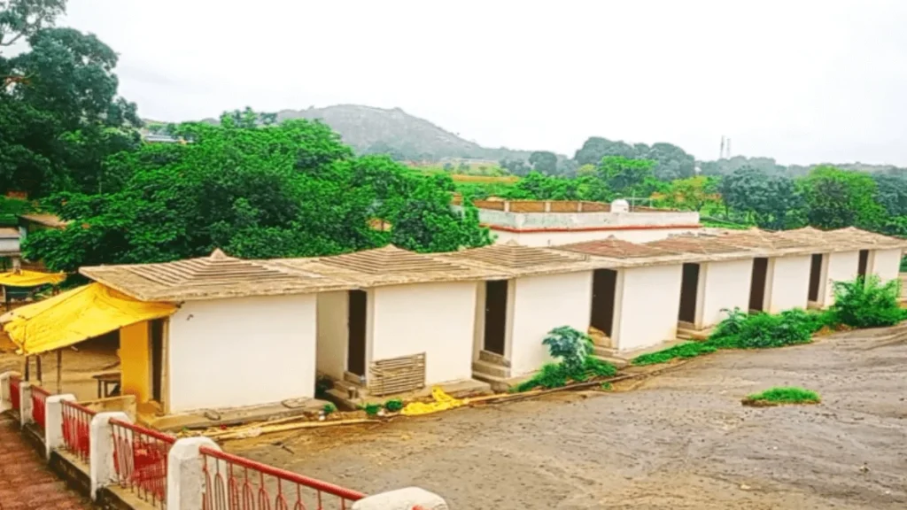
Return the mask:
<svg viewBox="0 0 907 510"><path fill-rule="evenodd" d="M317 370L350 397L472 379L477 289L492 272L393 246L274 262L355 285L317 296Z"/></svg>

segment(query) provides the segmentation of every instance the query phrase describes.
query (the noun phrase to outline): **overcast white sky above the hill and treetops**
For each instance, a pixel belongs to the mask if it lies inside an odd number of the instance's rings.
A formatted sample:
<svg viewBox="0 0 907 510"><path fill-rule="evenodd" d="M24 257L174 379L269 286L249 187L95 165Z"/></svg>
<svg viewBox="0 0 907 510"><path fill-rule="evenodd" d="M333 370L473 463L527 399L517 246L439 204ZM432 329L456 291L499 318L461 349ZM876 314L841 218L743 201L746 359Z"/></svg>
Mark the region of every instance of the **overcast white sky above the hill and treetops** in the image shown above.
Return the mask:
<svg viewBox="0 0 907 510"><path fill-rule="evenodd" d="M70 0L164 121L359 103L487 146L590 135L907 166L904 0Z"/></svg>

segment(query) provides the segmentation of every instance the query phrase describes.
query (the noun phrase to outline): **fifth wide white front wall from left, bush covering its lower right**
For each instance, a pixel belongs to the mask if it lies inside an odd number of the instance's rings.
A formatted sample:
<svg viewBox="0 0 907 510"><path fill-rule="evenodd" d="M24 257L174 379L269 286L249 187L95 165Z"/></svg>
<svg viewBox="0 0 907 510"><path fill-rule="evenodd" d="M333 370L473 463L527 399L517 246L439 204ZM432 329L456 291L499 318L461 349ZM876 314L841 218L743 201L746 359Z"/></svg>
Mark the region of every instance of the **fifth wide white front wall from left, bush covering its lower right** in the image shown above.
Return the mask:
<svg viewBox="0 0 907 510"><path fill-rule="evenodd" d="M722 309L746 311L752 285L753 259L707 262L699 266L698 329L715 326L727 318Z"/></svg>

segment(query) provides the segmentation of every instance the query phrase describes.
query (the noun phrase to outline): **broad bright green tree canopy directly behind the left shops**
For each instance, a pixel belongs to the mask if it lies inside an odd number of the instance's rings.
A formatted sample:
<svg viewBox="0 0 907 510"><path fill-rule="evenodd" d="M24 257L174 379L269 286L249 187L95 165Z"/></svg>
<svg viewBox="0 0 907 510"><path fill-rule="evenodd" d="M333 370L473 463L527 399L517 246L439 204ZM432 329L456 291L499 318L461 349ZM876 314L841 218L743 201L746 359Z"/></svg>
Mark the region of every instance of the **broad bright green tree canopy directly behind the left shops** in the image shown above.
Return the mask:
<svg viewBox="0 0 907 510"><path fill-rule="evenodd" d="M107 166L118 191L66 192L46 205L79 227L28 237L53 270L198 257L329 255L382 246L456 250L487 244L477 214L450 209L453 181L408 171L386 156L356 158L319 122L249 127L183 124L192 143L145 145ZM391 223L389 232L371 221Z"/></svg>

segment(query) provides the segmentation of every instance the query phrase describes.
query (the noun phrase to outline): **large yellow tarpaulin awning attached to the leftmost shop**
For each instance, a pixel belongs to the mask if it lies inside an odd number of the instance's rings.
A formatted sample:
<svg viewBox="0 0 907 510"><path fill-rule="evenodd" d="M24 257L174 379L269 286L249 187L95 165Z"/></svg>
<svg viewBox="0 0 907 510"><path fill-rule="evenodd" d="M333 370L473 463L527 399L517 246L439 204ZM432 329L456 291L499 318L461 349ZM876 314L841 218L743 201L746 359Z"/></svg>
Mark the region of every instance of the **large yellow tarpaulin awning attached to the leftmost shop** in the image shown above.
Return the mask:
<svg viewBox="0 0 907 510"><path fill-rule="evenodd" d="M19 347L32 355L69 347L88 338L135 324L161 319L176 311L171 303L132 299L100 283L68 290L50 299L5 314L4 329Z"/></svg>

